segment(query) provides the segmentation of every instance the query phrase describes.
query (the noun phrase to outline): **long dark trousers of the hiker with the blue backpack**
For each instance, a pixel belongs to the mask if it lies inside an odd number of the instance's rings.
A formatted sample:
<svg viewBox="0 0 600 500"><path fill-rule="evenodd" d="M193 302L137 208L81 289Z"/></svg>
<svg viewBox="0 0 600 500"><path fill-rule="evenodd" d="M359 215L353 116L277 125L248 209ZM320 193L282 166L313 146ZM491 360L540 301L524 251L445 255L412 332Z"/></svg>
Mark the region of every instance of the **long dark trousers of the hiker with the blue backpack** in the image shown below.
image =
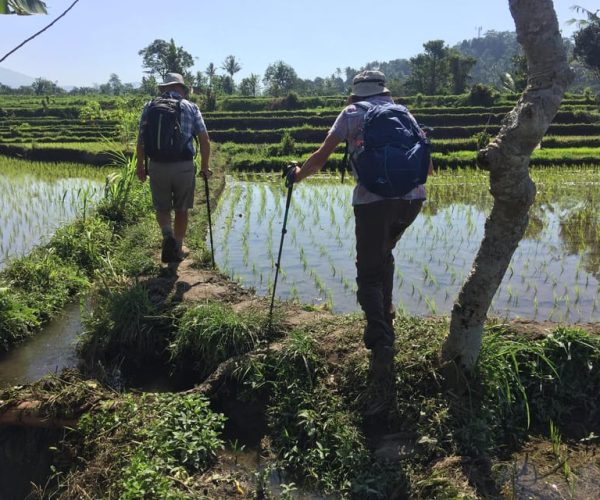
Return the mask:
<svg viewBox="0 0 600 500"><path fill-rule="evenodd" d="M364 341L393 345L392 250L421 211L423 200L382 200L354 206L357 298L367 318Z"/></svg>

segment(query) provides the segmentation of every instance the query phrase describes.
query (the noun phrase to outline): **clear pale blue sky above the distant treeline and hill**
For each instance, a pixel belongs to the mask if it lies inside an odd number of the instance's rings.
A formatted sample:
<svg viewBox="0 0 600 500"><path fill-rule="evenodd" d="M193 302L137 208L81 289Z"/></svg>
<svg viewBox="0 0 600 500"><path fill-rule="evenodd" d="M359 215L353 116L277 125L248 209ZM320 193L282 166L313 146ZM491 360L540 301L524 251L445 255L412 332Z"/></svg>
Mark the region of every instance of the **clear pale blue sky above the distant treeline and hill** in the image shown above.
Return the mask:
<svg viewBox="0 0 600 500"><path fill-rule="evenodd" d="M554 0L559 27L570 36L573 4ZM0 16L0 56L44 27L72 0L46 0L48 16ZM365 6L377 5L370 12ZM596 5L597 6L597 5ZM514 30L508 0L80 0L52 28L9 56L2 67L60 85L104 83L111 73L140 81L138 51L154 39L173 38L196 59L193 71L220 66L233 54L242 70L261 75L284 60L302 78L336 68L409 58L423 43L454 45L488 30Z"/></svg>

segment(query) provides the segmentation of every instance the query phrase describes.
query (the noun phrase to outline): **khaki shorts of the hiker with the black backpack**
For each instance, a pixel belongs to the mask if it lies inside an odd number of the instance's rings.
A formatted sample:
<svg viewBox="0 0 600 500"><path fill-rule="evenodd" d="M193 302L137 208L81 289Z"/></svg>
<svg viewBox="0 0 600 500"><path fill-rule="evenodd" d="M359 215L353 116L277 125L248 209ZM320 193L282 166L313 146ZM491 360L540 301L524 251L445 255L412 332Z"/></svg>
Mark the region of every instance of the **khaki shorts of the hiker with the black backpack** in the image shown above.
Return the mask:
<svg viewBox="0 0 600 500"><path fill-rule="evenodd" d="M182 212L194 206L196 168L194 160L148 165L152 203L158 212Z"/></svg>

